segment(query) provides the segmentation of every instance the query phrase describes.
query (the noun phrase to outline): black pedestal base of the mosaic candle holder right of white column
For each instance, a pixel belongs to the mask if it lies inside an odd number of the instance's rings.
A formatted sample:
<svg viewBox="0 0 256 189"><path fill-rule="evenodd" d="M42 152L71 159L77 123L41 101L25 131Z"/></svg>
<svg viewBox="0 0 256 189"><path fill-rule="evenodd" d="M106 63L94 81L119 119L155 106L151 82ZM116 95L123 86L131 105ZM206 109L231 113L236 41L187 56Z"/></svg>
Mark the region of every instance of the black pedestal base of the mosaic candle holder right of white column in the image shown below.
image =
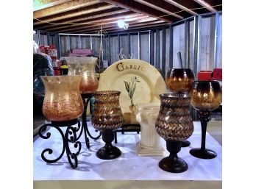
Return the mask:
<svg viewBox="0 0 256 189"><path fill-rule="evenodd" d="M170 152L170 155L160 160L158 164L159 167L163 169L163 171L171 173L182 173L188 170L188 164L182 160L182 158L177 156L181 146L182 142L170 140L166 141L166 147Z"/></svg>

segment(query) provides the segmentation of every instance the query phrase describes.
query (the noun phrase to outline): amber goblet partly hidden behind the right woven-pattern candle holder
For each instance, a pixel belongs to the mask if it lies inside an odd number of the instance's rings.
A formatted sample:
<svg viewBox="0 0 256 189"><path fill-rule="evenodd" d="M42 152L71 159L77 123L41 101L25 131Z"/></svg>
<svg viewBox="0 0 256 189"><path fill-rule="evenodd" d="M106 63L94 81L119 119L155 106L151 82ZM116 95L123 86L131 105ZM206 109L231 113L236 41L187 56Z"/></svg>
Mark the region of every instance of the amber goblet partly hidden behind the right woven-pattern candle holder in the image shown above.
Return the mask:
<svg viewBox="0 0 256 189"><path fill-rule="evenodd" d="M166 87L171 93L188 94L194 80L195 76L190 68L172 68L166 74ZM190 145L188 140L182 141L182 147Z"/></svg>

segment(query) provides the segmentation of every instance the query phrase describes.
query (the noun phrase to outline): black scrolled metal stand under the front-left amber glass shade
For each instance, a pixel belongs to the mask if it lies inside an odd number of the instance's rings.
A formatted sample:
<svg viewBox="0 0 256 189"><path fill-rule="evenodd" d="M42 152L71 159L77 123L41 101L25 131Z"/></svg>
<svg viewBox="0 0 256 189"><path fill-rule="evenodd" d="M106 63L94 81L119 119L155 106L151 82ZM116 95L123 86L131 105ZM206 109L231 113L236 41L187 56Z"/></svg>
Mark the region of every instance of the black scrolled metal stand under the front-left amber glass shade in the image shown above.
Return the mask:
<svg viewBox="0 0 256 189"><path fill-rule="evenodd" d="M74 124L78 124L77 129L73 127ZM45 135L43 134L43 132L46 131L47 126L51 126L52 128L57 129L58 132L60 132L60 135L63 138L63 150L60 153L59 157L55 158L54 160L49 160L46 158L45 154L46 152L48 152L48 154L52 154L53 150L44 149L41 153L42 159L46 163L56 163L58 160L60 160L61 157L63 157L64 152L66 152L68 157L68 163L71 165L71 168L77 168L77 165L78 165L77 156L81 151L81 143L78 141L78 139L82 135L82 129L79 134L79 137L77 137L77 132L81 128L80 121L78 119L74 119L71 121L51 121L51 124L44 124L43 126L40 127L39 133L38 133L40 138L48 139L51 137L50 132L46 132ZM62 129L60 129L60 127L62 126L67 126L65 134L63 133ZM77 149L76 153L71 151L71 149L69 148L69 143L74 143L74 149Z"/></svg>

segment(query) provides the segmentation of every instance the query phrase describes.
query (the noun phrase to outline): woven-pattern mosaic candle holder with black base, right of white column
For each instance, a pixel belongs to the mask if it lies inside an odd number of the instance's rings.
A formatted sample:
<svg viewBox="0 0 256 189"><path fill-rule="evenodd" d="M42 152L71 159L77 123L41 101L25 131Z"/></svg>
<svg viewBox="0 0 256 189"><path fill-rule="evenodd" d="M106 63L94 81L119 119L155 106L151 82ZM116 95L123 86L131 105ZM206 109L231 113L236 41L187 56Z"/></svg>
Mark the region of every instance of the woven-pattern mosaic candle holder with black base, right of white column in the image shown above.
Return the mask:
<svg viewBox="0 0 256 189"><path fill-rule="evenodd" d="M156 121L157 133L166 140L168 157L160 160L159 167L171 173L180 173L188 169L188 164L177 156L182 141L193 133L193 121L190 113L191 97L188 94L160 94L160 112Z"/></svg>

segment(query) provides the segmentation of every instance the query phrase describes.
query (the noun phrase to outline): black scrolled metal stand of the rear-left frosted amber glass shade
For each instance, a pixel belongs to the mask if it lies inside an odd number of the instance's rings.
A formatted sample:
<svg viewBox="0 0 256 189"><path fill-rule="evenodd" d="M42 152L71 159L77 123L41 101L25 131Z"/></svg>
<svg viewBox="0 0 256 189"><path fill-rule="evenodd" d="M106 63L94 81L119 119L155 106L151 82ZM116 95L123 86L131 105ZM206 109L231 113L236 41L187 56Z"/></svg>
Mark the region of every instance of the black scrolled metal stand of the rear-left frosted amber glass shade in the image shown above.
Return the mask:
<svg viewBox="0 0 256 189"><path fill-rule="evenodd" d="M89 135L90 138L92 138L94 140L99 139L102 134L101 134L101 132L99 132L99 135L97 135L96 137L93 137L93 135L91 135L89 132L87 121L86 121L86 111L87 111L89 101L93 97L93 93L84 93L84 94L81 94L81 96L82 96L82 100L84 101L84 106L85 106L84 112L82 113L82 129L85 130L86 147L88 149L90 149L90 143L89 143L89 138L88 138L87 134ZM87 99L87 100L85 100L85 99ZM96 130L96 132L98 132L98 131Z"/></svg>

